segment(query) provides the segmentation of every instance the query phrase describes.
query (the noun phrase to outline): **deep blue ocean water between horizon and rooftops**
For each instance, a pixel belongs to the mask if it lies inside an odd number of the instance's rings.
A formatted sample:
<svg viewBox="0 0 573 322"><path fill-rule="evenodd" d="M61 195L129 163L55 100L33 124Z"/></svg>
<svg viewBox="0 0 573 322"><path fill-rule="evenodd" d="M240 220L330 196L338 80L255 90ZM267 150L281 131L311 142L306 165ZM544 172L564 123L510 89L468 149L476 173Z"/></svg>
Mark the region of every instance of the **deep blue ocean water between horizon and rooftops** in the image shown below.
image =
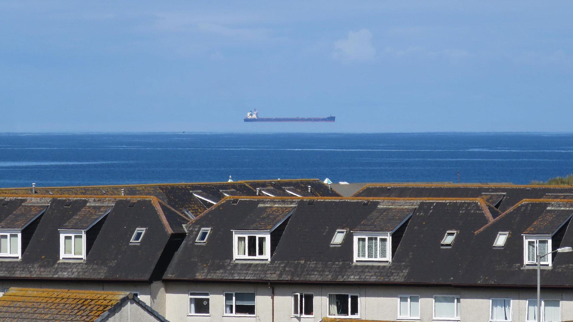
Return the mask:
<svg viewBox="0 0 573 322"><path fill-rule="evenodd" d="M573 133L0 134L0 186L329 178L529 183L573 173Z"/></svg>

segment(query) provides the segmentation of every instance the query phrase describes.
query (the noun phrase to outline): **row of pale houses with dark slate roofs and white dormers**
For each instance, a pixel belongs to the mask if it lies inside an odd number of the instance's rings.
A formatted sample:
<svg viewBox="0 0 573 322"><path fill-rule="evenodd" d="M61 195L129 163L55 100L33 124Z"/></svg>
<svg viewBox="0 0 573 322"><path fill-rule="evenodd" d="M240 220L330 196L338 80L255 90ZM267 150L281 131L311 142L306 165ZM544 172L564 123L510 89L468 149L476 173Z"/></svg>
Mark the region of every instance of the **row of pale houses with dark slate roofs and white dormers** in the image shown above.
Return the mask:
<svg viewBox="0 0 573 322"><path fill-rule="evenodd" d="M573 320L572 253L541 262L540 308L535 287L537 254L573 246L571 188L256 183L201 184L193 218L194 184L0 190L0 289L127 292L168 321Z"/></svg>

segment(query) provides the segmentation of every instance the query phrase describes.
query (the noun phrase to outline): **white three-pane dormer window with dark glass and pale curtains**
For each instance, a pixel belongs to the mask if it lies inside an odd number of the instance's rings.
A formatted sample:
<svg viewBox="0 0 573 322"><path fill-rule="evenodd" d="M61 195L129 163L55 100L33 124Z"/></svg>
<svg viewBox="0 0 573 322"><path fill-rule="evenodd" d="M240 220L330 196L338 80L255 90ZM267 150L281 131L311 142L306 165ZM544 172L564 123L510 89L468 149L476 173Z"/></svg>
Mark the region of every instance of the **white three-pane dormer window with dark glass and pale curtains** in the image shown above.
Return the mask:
<svg viewBox="0 0 573 322"><path fill-rule="evenodd" d="M233 231L234 259L270 260L270 231Z"/></svg>

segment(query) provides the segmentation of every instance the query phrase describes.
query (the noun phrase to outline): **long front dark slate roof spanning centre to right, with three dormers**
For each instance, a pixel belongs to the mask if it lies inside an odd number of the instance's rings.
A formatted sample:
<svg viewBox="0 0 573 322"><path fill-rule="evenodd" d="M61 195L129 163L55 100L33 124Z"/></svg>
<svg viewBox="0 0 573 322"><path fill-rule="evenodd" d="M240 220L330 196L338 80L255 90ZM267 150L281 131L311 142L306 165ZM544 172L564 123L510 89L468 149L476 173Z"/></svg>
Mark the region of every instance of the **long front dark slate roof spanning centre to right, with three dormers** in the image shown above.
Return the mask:
<svg viewBox="0 0 573 322"><path fill-rule="evenodd" d="M262 202L296 202L296 208L270 261L234 261L231 230ZM521 234L529 227L541 227L539 232L561 226L553 248L573 246L570 216L564 215L569 207L573 200L525 199L493 218L481 198L227 198L195 219L164 280L532 287L536 270L523 265ZM354 262L353 231L368 225L390 230L408 211L411 217L393 234L390 264ZM212 228L207 242L195 244L199 227L206 226ZM331 247L337 229L348 233L342 245ZM440 242L448 230L457 235L445 248ZM494 248L499 231L510 234L503 248ZM572 281L570 254L557 254L553 266L543 269L544 285L573 287Z"/></svg>

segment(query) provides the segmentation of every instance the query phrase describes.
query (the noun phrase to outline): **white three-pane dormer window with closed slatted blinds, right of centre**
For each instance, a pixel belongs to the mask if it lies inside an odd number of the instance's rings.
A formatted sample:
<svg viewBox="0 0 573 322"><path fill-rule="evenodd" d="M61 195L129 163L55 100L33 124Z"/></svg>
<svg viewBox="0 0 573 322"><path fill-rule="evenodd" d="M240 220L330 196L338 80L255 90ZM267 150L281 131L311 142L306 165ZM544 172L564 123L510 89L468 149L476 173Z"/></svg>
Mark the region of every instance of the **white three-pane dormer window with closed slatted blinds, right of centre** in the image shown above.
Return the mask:
<svg viewBox="0 0 573 322"><path fill-rule="evenodd" d="M390 262L390 233L354 233L355 261Z"/></svg>

